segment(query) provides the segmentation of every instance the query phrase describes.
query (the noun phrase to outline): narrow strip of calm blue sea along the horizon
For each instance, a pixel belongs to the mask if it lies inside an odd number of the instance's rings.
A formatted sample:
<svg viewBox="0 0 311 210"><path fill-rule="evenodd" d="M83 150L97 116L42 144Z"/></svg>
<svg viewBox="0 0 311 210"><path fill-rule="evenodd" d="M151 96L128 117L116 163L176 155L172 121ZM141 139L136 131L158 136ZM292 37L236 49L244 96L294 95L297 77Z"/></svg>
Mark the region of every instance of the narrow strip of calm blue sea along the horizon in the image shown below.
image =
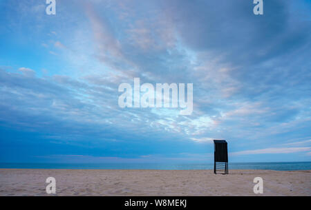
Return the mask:
<svg viewBox="0 0 311 210"><path fill-rule="evenodd" d="M0 163L2 169L213 169L214 164L156 163ZM229 162L229 169L311 170L311 162Z"/></svg>

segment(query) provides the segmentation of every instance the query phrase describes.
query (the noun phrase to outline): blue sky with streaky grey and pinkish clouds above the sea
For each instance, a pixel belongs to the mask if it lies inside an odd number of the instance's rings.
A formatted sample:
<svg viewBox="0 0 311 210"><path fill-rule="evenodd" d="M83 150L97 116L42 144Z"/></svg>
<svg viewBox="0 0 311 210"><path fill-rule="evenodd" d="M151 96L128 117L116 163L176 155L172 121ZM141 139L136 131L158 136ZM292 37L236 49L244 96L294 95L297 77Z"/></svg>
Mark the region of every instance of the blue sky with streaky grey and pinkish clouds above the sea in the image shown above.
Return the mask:
<svg viewBox="0 0 311 210"><path fill-rule="evenodd" d="M0 1L0 162L311 161L311 2ZM193 83L194 110L121 108Z"/></svg>

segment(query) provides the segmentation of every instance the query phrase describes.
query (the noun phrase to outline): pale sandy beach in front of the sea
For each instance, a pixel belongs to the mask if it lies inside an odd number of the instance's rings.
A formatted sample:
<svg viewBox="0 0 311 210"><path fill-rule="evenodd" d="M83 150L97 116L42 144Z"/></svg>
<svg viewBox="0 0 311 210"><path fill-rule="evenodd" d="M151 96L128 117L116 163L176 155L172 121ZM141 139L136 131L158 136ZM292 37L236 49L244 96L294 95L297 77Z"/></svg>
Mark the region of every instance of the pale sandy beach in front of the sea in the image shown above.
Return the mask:
<svg viewBox="0 0 311 210"><path fill-rule="evenodd" d="M0 196L48 196L46 178L56 179L56 196L258 196L253 180L263 178L263 196L311 196L311 171L0 169Z"/></svg>

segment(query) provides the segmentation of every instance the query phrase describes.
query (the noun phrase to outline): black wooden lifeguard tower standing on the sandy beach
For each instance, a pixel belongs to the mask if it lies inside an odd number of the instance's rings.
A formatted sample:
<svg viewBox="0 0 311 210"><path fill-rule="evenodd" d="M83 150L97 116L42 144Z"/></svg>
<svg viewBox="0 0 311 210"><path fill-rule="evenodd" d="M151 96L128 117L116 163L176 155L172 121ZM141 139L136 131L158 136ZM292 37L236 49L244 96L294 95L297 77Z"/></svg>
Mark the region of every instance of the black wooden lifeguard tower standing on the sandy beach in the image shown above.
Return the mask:
<svg viewBox="0 0 311 210"><path fill-rule="evenodd" d="M214 174L228 174L228 147L225 140L214 140Z"/></svg>

